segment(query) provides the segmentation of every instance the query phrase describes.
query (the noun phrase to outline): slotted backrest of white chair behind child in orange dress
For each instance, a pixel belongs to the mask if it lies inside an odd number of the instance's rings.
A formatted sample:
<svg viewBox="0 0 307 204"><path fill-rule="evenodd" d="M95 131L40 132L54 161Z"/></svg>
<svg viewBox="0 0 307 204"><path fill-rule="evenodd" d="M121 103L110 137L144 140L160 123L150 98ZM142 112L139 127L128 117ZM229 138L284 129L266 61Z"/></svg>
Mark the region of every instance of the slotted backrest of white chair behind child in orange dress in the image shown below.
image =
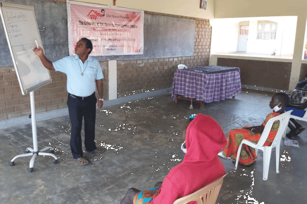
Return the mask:
<svg viewBox="0 0 307 204"><path fill-rule="evenodd" d="M290 111L287 111L285 113L282 113L276 117L273 117L271 118L266 126L265 126L265 129L264 131L262 132L261 134L261 137L260 137L260 140L259 142L257 143L257 147L258 146L264 146L266 140L268 139L269 137L269 134L270 134L270 131L271 131L271 128L272 128L272 125L275 121L279 120L280 121L280 124L279 124L279 128L278 128L278 131L277 131L277 134L271 144L271 146L275 146L277 143L279 144L280 143L280 140L281 140L281 137L283 135L283 133L286 131L286 128L288 126L288 122L289 122L289 118L290 118L290 114L293 110L290 110ZM257 148L256 147L256 148Z"/></svg>

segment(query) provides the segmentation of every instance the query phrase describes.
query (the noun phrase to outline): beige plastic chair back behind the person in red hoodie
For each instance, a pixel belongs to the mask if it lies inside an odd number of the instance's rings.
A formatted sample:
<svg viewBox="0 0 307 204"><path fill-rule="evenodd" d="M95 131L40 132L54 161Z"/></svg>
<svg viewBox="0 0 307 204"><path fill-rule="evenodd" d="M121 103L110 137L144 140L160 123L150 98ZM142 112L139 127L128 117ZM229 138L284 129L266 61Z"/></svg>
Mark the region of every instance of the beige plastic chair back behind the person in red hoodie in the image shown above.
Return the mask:
<svg viewBox="0 0 307 204"><path fill-rule="evenodd" d="M196 201L198 204L214 204L226 175L227 173L200 190L175 200L173 204L186 204L191 201Z"/></svg>

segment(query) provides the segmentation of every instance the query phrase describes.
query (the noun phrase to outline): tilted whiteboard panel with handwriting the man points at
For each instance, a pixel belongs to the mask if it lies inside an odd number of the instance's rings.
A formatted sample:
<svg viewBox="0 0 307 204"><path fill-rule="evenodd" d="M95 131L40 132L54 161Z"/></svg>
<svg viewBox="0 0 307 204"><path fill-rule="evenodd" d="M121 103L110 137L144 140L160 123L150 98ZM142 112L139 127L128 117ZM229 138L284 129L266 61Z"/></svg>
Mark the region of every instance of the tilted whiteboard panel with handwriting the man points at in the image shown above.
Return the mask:
<svg viewBox="0 0 307 204"><path fill-rule="evenodd" d="M33 52L35 40L42 48L34 7L2 2L0 14L21 92L51 83L49 70Z"/></svg>

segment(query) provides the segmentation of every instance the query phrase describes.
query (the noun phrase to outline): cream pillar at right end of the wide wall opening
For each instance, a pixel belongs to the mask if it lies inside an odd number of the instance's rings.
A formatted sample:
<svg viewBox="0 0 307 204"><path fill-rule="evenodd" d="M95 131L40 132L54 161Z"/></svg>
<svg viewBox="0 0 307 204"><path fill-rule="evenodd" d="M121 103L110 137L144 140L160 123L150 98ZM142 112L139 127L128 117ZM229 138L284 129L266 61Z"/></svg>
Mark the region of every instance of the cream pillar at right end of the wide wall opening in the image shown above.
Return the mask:
<svg viewBox="0 0 307 204"><path fill-rule="evenodd" d="M302 64L302 57L304 53L303 51L305 47L304 38L305 38L306 18L307 18L306 14L299 15L297 17L289 90L293 90L299 80L300 68ZM284 40L287 40L287 39L284 39Z"/></svg>

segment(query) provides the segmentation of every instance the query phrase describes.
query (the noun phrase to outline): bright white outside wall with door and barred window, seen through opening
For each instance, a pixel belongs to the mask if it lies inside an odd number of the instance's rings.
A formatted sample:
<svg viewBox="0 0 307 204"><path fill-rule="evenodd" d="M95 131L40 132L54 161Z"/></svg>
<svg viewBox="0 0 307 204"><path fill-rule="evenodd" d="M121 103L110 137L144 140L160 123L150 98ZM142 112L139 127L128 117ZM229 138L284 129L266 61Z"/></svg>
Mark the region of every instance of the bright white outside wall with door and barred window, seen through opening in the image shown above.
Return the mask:
<svg viewBox="0 0 307 204"><path fill-rule="evenodd" d="M276 39L257 39L258 20L277 22ZM240 21L249 21L247 53L271 55L276 49L276 55L292 58L296 33L296 16L212 19L211 55L237 51Z"/></svg>

